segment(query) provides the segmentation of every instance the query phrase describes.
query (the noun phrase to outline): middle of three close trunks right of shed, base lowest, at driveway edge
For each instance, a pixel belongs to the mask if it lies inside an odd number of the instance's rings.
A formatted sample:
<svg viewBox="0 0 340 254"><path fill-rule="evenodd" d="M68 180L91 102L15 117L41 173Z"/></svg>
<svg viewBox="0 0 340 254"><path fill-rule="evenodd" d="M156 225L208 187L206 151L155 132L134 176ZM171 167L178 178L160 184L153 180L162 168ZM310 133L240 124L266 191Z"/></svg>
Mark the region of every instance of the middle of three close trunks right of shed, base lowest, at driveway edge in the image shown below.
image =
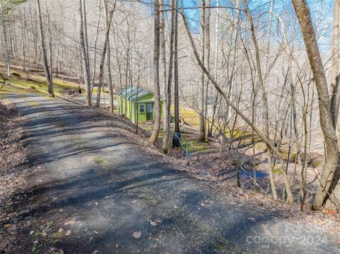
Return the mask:
<svg viewBox="0 0 340 254"><path fill-rule="evenodd" d="M171 86L172 86L172 73L173 73L173 64L174 64L174 35L175 35L175 13L176 13L176 1L172 0L172 11L171 11L171 35L170 35L170 57L169 57L169 77L168 77L168 85L164 88L164 119L163 119L163 142L162 142L162 150L164 154L169 154L170 152L170 135L171 135L171 126L170 126L170 118L171 118Z"/></svg>

